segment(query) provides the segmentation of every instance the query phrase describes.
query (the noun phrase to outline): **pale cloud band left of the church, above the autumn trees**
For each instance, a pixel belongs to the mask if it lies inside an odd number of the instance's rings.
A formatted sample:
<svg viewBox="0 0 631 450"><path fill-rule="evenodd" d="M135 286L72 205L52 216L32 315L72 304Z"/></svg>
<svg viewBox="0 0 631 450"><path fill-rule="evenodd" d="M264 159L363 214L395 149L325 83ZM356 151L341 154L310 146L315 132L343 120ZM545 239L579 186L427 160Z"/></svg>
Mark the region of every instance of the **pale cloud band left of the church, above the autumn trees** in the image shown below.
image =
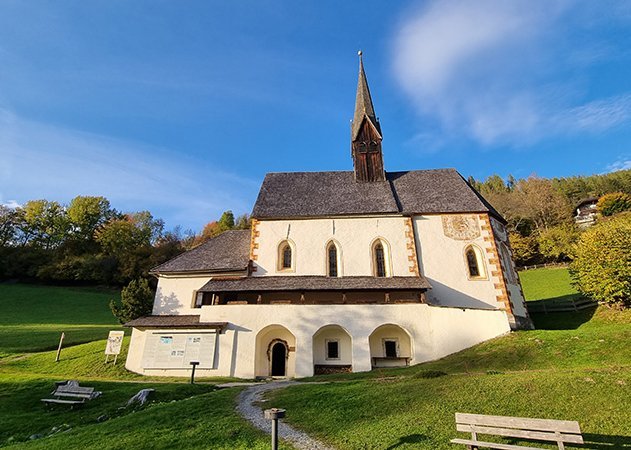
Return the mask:
<svg viewBox="0 0 631 450"><path fill-rule="evenodd" d="M104 195L118 209L148 209L168 226L195 229L225 209L249 211L257 182L184 154L0 109L0 199L15 203Z"/></svg>

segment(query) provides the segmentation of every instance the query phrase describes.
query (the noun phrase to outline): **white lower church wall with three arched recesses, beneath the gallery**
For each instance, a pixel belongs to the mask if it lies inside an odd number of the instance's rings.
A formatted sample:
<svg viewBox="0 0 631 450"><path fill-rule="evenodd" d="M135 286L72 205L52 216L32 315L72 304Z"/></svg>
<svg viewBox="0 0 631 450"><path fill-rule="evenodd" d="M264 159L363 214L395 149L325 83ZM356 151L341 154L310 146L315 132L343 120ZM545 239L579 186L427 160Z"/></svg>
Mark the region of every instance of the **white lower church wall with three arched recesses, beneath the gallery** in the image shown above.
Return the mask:
<svg viewBox="0 0 631 450"><path fill-rule="evenodd" d="M411 364L441 358L509 331L506 314L499 310L460 309L426 304L391 305L221 305L201 308L202 322L228 322L219 336L214 370L200 376L253 378L256 375L257 335L271 324L280 325L295 337L290 355L292 374L313 374L313 336L326 325L339 325L352 339L354 372L371 369L369 337L378 327L394 324L411 339ZM142 367L144 334L134 330L126 367L147 375L188 376L181 370L150 370ZM272 336L266 336L272 338ZM279 337L282 339L282 337ZM378 355L372 355L378 356Z"/></svg>

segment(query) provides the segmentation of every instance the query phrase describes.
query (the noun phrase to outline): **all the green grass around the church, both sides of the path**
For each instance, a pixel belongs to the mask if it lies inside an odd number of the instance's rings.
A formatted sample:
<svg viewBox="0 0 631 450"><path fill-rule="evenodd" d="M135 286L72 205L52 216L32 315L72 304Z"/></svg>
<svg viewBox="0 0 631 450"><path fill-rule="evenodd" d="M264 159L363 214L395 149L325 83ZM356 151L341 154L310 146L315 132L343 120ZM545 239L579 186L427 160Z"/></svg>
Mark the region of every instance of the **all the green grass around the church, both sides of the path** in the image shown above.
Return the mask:
<svg viewBox="0 0 631 450"><path fill-rule="evenodd" d="M521 276L531 300L574 294L564 269ZM9 294L13 302L6 301ZM9 341L21 342L0 344L5 352L0 359L0 447L269 448L269 438L235 413L238 389L216 390L210 379L189 386L181 379L127 372L122 363L129 338L120 362L105 365L103 339L116 327L107 308L112 295L0 285L2 306L7 304L0 330ZM17 299L36 306L33 311L17 307ZM439 361L314 377L331 383L276 391L267 404L286 408L287 421L340 449L456 448L448 442L458 436L457 411L578 420L590 442L587 448L631 449L631 311L600 307L533 315L533 320L537 330L511 333ZM64 348L55 363L55 351L42 350L56 342L46 345L38 327L58 333L59 327L66 331L73 325L85 327L83 338L92 342ZM11 337L16 331L27 333L23 342ZM103 395L83 409L48 411L40 399L54 381L69 378ZM135 411L125 408L143 387L156 389L153 403ZM108 420L97 422L103 415ZM54 433L54 427L62 431ZM32 434L45 437L28 441Z"/></svg>

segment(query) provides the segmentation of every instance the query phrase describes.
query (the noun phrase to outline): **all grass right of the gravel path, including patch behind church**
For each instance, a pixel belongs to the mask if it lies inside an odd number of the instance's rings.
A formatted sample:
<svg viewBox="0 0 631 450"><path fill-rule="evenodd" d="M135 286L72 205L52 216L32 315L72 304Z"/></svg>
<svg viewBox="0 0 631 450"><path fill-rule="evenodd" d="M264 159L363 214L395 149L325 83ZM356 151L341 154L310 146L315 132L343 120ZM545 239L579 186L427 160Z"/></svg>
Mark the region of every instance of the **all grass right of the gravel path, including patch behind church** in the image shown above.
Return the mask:
<svg viewBox="0 0 631 450"><path fill-rule="evenodd" d="M567 269L520 276L528 300L577 295ZM455 431L456 412L578 420L587 444L567 448L631 448L631 311L533 320L535 331L439 361L315 377L338 382L276 391L269 404L339 449L457 448L449 440L466 435Z"/></svg>

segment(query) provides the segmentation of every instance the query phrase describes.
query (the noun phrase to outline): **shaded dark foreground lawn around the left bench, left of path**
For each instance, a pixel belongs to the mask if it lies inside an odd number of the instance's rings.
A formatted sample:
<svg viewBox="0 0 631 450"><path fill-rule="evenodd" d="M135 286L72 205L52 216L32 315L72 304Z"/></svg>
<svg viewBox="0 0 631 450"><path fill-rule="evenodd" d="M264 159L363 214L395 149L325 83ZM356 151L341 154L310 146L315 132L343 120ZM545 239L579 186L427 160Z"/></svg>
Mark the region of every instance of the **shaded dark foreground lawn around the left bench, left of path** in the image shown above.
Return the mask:
<svg viewBox="0 0 631 450"><path fill-rule="evenodd" d="M269 438L234 410L239 389L186 383L90 382L103 394L82 408L40 401L55 378L0 376L0 447L29 449L267 449ZM126 407L143 388L150 404ZM105 421L97 419L107 416ZM60 431L56 431L60 430ZM38 434L42 437L29 440ZM288 449L290 447L283 446Z"/></svg>

